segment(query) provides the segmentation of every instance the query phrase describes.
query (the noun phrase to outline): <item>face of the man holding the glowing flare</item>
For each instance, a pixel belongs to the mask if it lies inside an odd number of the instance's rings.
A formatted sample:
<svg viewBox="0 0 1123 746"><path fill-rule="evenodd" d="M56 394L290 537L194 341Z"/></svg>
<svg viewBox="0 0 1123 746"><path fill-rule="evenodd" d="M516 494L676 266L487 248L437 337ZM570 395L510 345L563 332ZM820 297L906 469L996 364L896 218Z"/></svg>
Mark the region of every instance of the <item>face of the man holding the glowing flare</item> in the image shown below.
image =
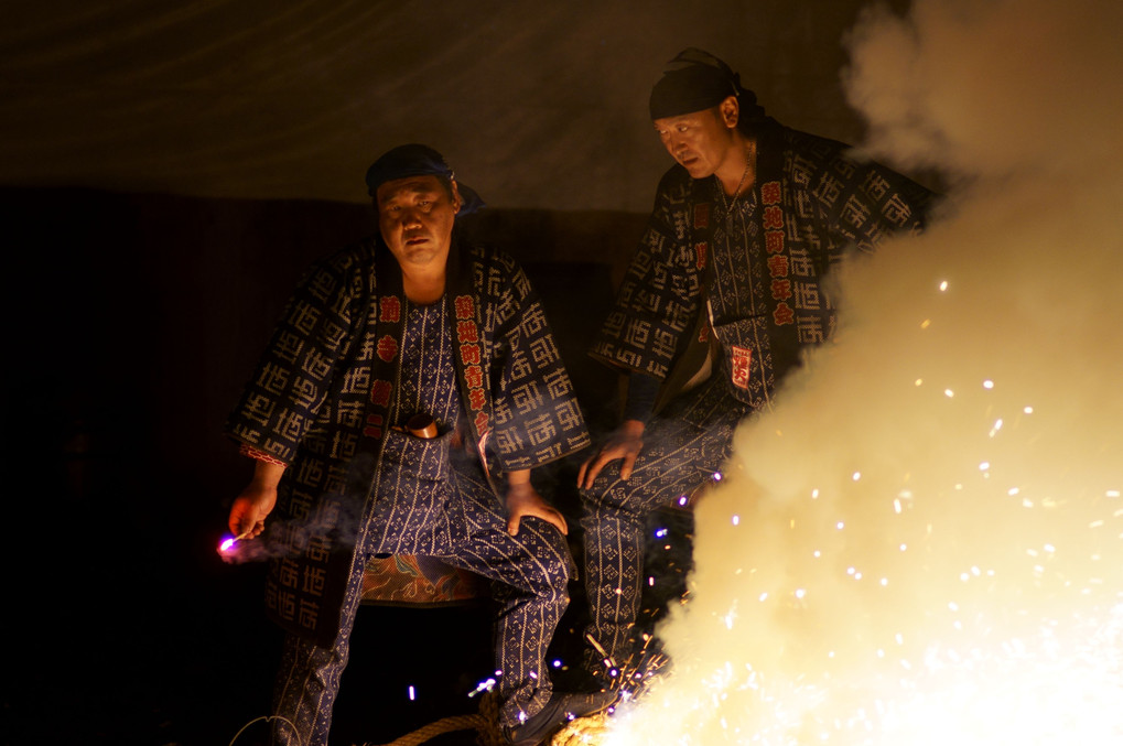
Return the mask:
<svg viewBox="0 0 1123 746"><path fill-rule="evenodd" d="M455 181L451 195L432 175L387 181L375 192L375 204L382 238L402 269L445 262L460 209Z"/></svg>

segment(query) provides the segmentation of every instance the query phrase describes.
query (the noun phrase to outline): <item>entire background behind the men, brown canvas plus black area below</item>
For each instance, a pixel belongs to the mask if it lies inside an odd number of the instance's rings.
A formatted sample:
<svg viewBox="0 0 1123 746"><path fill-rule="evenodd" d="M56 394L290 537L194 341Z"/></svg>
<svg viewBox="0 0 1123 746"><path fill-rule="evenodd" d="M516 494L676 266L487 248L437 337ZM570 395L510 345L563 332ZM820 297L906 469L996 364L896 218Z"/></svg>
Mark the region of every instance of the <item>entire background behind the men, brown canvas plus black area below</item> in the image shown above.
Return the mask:
<svg viewBox="0 0 1123 746"><path fill-rule="evenodd" d="M840 73L864 4L4 3L0 739L228 744L267 712L264 568L216 553L249 475L221 426L303 269L373 230L374 157L428 143L489 201L478 228L542 293L600 431L617 382L584 351L669 165L664 62L706 48L785 124L858 142ZM572 529L575 470L539 483ZM652 557L655 608L687 530ZM474 711L490 647L485 602L364 608L334 742Z"/></svg>

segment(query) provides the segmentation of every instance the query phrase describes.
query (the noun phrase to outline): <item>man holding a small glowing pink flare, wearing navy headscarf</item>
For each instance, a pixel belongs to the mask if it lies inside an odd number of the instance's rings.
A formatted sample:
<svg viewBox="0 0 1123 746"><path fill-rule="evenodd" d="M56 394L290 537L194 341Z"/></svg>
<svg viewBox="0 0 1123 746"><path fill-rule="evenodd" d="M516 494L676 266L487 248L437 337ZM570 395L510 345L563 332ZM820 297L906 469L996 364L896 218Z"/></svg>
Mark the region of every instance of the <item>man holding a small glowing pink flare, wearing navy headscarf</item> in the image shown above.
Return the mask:
<svg viewBox="0 0 1123 746"><path fill-rule="evenodd" d="M544 665L574 567L530 471L585 425L526 275L457 230L482 203L444 157L401 146L366 182L380 235L307 273L227 426L255 460L230 529L282 548L274 739L327 744L364 568L413 554L492 581L501 725L537 744L608 703Z"/></svg>

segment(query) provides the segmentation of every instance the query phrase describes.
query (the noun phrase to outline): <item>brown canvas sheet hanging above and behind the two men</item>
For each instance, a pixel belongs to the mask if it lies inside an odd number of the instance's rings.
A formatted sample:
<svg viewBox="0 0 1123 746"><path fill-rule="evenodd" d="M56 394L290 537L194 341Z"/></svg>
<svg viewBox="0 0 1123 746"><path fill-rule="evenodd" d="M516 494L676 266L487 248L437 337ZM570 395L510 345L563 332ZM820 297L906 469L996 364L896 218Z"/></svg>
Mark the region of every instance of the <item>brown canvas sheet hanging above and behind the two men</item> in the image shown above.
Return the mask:
<svg viewBox="0 0 1123 746"><path fill-rule="evenodd" d="M375 156L423 142L496 207L646 211L668 58L706 48L785 124L852 140L862 4L6 3L0 183L362 201Z"/></svg>

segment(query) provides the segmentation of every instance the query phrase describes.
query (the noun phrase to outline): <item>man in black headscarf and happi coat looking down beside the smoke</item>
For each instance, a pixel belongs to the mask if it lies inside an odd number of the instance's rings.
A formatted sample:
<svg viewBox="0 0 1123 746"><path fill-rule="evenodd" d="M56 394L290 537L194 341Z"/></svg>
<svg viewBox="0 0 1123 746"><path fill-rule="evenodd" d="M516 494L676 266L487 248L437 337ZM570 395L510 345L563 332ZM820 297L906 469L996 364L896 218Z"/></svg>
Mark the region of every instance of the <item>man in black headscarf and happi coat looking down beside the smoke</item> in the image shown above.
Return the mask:
<svg viewBox="0 0 1123 746"><path fill-rule="evenodd" d="M650 113L676 163L591 351L629 374L622 424L578 473L594 675L634 652L647 517L720 477L737 425L830 336L831 267L919 230L932 197L780 126L700 49L672 61Z"/></svg>

